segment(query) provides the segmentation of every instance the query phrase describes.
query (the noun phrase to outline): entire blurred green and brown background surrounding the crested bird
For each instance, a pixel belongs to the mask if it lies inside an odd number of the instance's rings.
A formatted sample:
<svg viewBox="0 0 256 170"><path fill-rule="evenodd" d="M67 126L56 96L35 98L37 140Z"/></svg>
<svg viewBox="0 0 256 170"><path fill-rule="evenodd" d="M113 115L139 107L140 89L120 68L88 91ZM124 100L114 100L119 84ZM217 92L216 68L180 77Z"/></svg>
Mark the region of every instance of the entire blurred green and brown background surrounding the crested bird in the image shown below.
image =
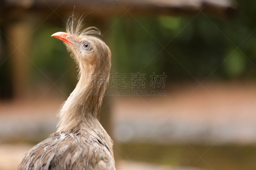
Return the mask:
<svg viewBox="0 0 256 170"><path fill-rule="evenodd" d="M111 74L125 75L108 91L164 92L104 98L116 169L256 169L256 1L2 0L1 170L56 131L77 67L51 35L74 5L76 18L92 11L85 26L101 30ZM161 86L153 74L166 75Z"/></svg>

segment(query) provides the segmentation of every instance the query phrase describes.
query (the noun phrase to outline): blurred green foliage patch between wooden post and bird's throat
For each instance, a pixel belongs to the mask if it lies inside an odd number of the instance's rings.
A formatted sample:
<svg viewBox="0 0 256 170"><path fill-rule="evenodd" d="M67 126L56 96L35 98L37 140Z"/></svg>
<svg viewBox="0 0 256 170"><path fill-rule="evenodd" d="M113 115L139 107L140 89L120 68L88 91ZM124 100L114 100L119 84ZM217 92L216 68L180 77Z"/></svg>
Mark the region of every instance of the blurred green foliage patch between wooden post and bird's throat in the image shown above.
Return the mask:
<svg viewBox="0 0 256 170"><path fill-rule="evenodd" d="M31 64L32 82L37 83L38 86L42 81L45 82L42 80L43 77L50 85L52 81L64 86L69 93L76 83L77 73L75 72L76 66L71 67L74 62L63 42L51 37L52 33L60 30L62 28L45 26L36 31L31 48L31 61L36 65Z"/></svg>

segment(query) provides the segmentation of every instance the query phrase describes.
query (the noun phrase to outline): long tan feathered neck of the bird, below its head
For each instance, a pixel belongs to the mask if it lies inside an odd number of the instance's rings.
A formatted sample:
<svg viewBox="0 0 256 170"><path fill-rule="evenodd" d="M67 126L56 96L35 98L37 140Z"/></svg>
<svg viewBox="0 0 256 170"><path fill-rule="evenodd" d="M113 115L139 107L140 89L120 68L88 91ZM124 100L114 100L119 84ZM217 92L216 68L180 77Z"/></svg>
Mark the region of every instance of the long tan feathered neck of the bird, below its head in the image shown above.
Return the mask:
<svg viewBox="0 0 256 170"><path fill-rule="evenodd" d="M101 128L98 121L109 78L109 70L97 70L94 67L80 65L80 78L74 91L60 110L60 122L57 131L68 131L88 125ZM99 126L99 127L97 127Z"/></svg>

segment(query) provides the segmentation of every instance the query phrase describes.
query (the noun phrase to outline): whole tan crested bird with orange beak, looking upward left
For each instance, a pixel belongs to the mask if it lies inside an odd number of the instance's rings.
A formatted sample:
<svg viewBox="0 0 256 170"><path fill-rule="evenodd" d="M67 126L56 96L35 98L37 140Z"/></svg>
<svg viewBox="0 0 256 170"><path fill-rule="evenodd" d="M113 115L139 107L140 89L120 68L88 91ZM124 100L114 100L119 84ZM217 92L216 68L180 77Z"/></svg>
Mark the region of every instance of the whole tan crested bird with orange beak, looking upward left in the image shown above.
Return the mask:
<svg viewBox="0 0 256 170"><path fill-rule="evenodd" d="M82 15L68 18L66 32L53 33L78 65L78 82L59 113L57 131L23 157L18 170L115 170L113 141L99 122L111 68L111 51Z"/></svg>

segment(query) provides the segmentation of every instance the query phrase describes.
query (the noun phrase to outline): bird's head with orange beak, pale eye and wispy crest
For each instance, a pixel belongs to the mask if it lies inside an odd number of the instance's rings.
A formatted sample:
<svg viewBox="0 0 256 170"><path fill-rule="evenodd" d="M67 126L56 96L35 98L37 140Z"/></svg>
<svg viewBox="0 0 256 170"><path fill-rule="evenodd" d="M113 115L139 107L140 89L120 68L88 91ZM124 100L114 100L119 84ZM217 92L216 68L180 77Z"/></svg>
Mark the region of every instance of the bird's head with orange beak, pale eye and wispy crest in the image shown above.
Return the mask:
<svg viewBox="0 0 256 170"><path fill-rule="evenodd" d="M96 27L82 29L84 16L81 16L75 25L74 15L70 16L65 32L57 32L52 37L65 43L68 50L80 67L90 73L108 73L110 70L111 52L108 46L97 36L101 35Z"/></svg>

